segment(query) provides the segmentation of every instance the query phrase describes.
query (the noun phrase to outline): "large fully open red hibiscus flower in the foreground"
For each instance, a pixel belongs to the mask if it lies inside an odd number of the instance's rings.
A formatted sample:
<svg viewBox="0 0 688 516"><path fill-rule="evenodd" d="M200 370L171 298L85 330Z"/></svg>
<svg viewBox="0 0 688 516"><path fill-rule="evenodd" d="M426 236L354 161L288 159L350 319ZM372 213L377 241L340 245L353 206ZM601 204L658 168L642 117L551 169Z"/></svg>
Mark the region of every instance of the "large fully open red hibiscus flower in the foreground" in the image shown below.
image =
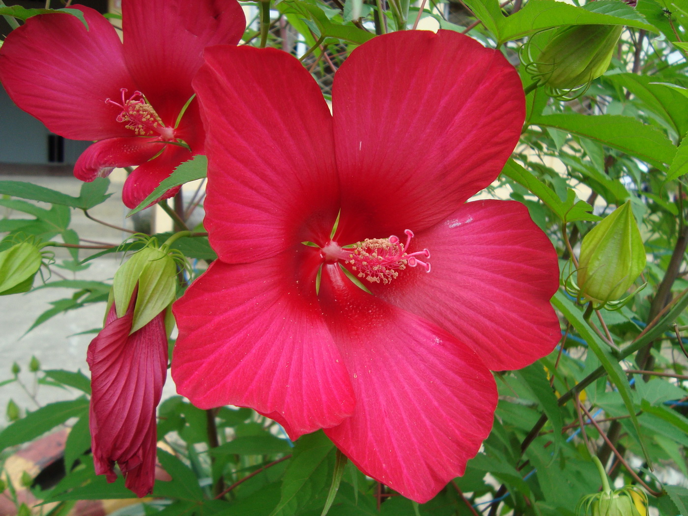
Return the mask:
<svg viewBox="0 0 688 516"><path fill-rule="evenodd" d="M560 337L546 235L522 204L465 202L517 143L519 76L467 36L396 32L347 58L330 116L284 52L205 57L194 87L219 260L173 305L178 390L252 407L292 439L324 428L425 502L491 430L490 369Z"/></svg>

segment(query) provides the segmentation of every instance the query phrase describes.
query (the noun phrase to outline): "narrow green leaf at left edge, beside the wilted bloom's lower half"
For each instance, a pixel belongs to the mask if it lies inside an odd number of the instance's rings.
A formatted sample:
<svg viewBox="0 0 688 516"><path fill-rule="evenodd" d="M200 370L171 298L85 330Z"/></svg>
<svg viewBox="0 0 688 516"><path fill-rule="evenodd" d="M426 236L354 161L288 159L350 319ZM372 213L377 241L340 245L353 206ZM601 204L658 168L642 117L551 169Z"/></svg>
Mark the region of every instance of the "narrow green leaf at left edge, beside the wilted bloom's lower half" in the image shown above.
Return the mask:
<svg viewBox="0 0 688 516"><path fill-rule="evenodd" d="M85 398L45 405L26 414L24 418L13 422L0 432L0 451L42 436L58 424L62 424L69 418L81 417L87 411L88 400Z"/></svg>

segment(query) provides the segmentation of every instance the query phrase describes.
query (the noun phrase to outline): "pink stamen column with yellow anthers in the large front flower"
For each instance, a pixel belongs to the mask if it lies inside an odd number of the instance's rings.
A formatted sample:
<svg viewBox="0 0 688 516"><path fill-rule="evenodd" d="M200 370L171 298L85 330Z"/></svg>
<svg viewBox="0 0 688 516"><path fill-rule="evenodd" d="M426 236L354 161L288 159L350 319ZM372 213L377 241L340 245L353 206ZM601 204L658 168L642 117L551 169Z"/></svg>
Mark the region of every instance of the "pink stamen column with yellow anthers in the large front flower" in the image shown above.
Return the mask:
<svg viewBox="0 0 688 516"><path fill-rule="evenodd" d="M420 259L429 258L430 251L423 249L407 252L413 231L407 229L404 234L405 244L396 235L389 238L367 238L347 248L329 241L321 248L320 254L326 263L334 264L341 260L349 264L359 278L365 278L371 283L389 283L398 277L400 270L407 267L421 266L425 272L430 272L430 264Z"/></svg>

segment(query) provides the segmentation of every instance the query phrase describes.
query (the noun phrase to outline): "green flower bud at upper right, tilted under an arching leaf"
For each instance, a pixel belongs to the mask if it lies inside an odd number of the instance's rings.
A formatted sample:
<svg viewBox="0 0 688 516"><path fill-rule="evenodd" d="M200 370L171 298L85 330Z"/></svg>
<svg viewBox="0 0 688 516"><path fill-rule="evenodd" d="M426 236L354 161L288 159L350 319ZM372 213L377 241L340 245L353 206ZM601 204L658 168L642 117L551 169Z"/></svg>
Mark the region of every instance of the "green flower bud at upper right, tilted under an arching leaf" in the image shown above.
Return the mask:
<svg viewBox="0 0 688 516"><path fill-rule="evenodd" d="M571 25L557 30L535 60L534 78L554 89L589 85L607 71L622 25Z"/></svg>

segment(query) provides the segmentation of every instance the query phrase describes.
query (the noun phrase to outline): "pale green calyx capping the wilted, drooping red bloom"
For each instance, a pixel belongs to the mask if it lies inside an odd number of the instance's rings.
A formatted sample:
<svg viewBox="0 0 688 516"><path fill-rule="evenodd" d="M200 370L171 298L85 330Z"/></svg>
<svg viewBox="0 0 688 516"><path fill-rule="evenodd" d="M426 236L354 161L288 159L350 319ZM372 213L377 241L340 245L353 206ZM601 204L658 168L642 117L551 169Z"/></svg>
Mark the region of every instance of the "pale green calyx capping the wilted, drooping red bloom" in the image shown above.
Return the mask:
<svg viewBox="0 0 688 516"><path fill-rule="evenodd" d="M131 333L147 325L174 301L178 266L183 267L183 257L169 246L189 232L182 233L172 235L162 246L158 246L154 238L147 239L146 246L134 253L115 273L112 299L118 317L127 313L133 292L138 286Z"/></svg>

